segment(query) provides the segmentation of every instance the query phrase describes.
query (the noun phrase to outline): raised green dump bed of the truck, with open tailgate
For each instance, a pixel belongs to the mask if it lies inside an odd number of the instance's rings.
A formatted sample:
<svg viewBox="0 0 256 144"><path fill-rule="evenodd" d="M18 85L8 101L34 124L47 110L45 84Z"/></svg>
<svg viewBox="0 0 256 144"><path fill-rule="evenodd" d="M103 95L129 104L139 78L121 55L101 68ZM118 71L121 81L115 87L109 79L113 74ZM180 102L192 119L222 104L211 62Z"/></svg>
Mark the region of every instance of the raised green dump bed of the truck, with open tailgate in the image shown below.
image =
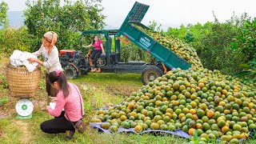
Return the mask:
<svg viewBox="0 0 256 144"><path fill-rule="evenodd" d="M118 30L117 36L125 36L131 42L134 42L135 45L141 47L142 50L146 50L147 53L154 56L154 58L164 63L169 68L179 67L182 70L187 70L190 68L190 62L187 62L173 51L167 49L165 46L162 46L162 44L155 41L154 38L151 38L148 34L142 32L142 30L138 30L138 28L135 26L142 26L142 28L149 30L147 26L144 26L141 23L142 18L144 18L144 15L149 7L150 6L135 2L133 8L130 10L130 13L127 15L125 21Z"/></svg>

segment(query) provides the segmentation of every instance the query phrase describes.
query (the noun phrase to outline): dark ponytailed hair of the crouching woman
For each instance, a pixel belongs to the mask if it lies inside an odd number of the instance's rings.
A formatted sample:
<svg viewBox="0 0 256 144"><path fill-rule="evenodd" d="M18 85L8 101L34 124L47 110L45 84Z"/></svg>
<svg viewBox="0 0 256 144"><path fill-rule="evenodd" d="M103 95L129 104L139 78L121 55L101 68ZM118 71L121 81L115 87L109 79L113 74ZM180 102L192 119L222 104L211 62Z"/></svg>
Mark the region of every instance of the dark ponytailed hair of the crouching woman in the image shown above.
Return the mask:
<svg viewBox="0 0 256 144"><path fill-rule="evenodd" d="M54 83L58 82L58 85L60 86L60 89L62 90L64 94L64 98L68 97L70 94L69 86L66 81L66 76L63 72L60 72L59 75L57 75L56 71L51 72L48 74L48 78L46 79L47 82Z"/></svg>

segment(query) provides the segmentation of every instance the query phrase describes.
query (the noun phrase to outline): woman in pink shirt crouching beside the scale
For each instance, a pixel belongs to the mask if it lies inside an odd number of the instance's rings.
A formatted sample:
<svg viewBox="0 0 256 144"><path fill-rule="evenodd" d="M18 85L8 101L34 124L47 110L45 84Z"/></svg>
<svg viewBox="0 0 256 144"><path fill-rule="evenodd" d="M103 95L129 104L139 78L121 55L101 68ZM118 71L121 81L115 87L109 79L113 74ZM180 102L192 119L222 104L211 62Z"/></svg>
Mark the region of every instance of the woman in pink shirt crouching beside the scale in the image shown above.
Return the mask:
<svg viewBox="0 0 256 144"><path fill-rule="evenodd" d="M78 86L67 82L61 70L51 72L47 82L58 90L56 98L53 99L56 102L54 109L50 106L46 107L47 112L55 118L42 122L41 130L49 134L67 132L65 139L70 140L74 136L75 123L82 119L84 114L82 96Z"/></svg>

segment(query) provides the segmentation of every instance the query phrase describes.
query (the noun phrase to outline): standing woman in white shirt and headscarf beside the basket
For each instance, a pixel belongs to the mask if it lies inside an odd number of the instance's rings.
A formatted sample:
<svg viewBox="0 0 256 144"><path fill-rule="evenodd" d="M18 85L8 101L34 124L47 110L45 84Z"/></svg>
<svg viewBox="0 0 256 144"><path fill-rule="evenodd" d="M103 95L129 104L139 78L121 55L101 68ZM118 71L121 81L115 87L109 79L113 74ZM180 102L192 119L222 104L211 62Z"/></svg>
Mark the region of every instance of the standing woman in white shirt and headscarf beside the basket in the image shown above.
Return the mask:
<svg viewBox="0 0 256 144"><path fill-rule="evenodd" d="M58 34L53 31L48 31L43 35L42 45L40 49L32 54L37 57L42 55L43 62L37 58L28 58L29 62L38 62L39 65L46 67L46 78L52 71L62 70L62 65L58 58L58 49L55 45L57 42ZM55 97L58 90L50 86L50 83L46 82L46 91L48 96Z"/></svg>

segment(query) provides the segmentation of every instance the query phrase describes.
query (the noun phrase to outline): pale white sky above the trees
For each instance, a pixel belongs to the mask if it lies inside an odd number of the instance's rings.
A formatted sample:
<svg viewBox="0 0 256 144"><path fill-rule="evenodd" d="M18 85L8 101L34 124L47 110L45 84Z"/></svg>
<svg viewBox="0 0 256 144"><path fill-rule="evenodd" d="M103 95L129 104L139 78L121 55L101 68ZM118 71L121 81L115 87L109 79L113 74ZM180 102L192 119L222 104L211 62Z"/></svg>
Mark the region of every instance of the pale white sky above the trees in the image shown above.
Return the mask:
<svg viewBox="0 0 256 144"><path fill-rule="evenodd" d="M8 4L10 11L26 9L26 0L2 1ZM150 6L142 20L144 25L155 21L162 24L163 29L189 23L213 22L213 11L220 22L230 19L234 13L241 16L246 12L250 17L256 17L255 0L102 0L102 14L106 15L106 24L120 27L134 2Z"/></svg>

